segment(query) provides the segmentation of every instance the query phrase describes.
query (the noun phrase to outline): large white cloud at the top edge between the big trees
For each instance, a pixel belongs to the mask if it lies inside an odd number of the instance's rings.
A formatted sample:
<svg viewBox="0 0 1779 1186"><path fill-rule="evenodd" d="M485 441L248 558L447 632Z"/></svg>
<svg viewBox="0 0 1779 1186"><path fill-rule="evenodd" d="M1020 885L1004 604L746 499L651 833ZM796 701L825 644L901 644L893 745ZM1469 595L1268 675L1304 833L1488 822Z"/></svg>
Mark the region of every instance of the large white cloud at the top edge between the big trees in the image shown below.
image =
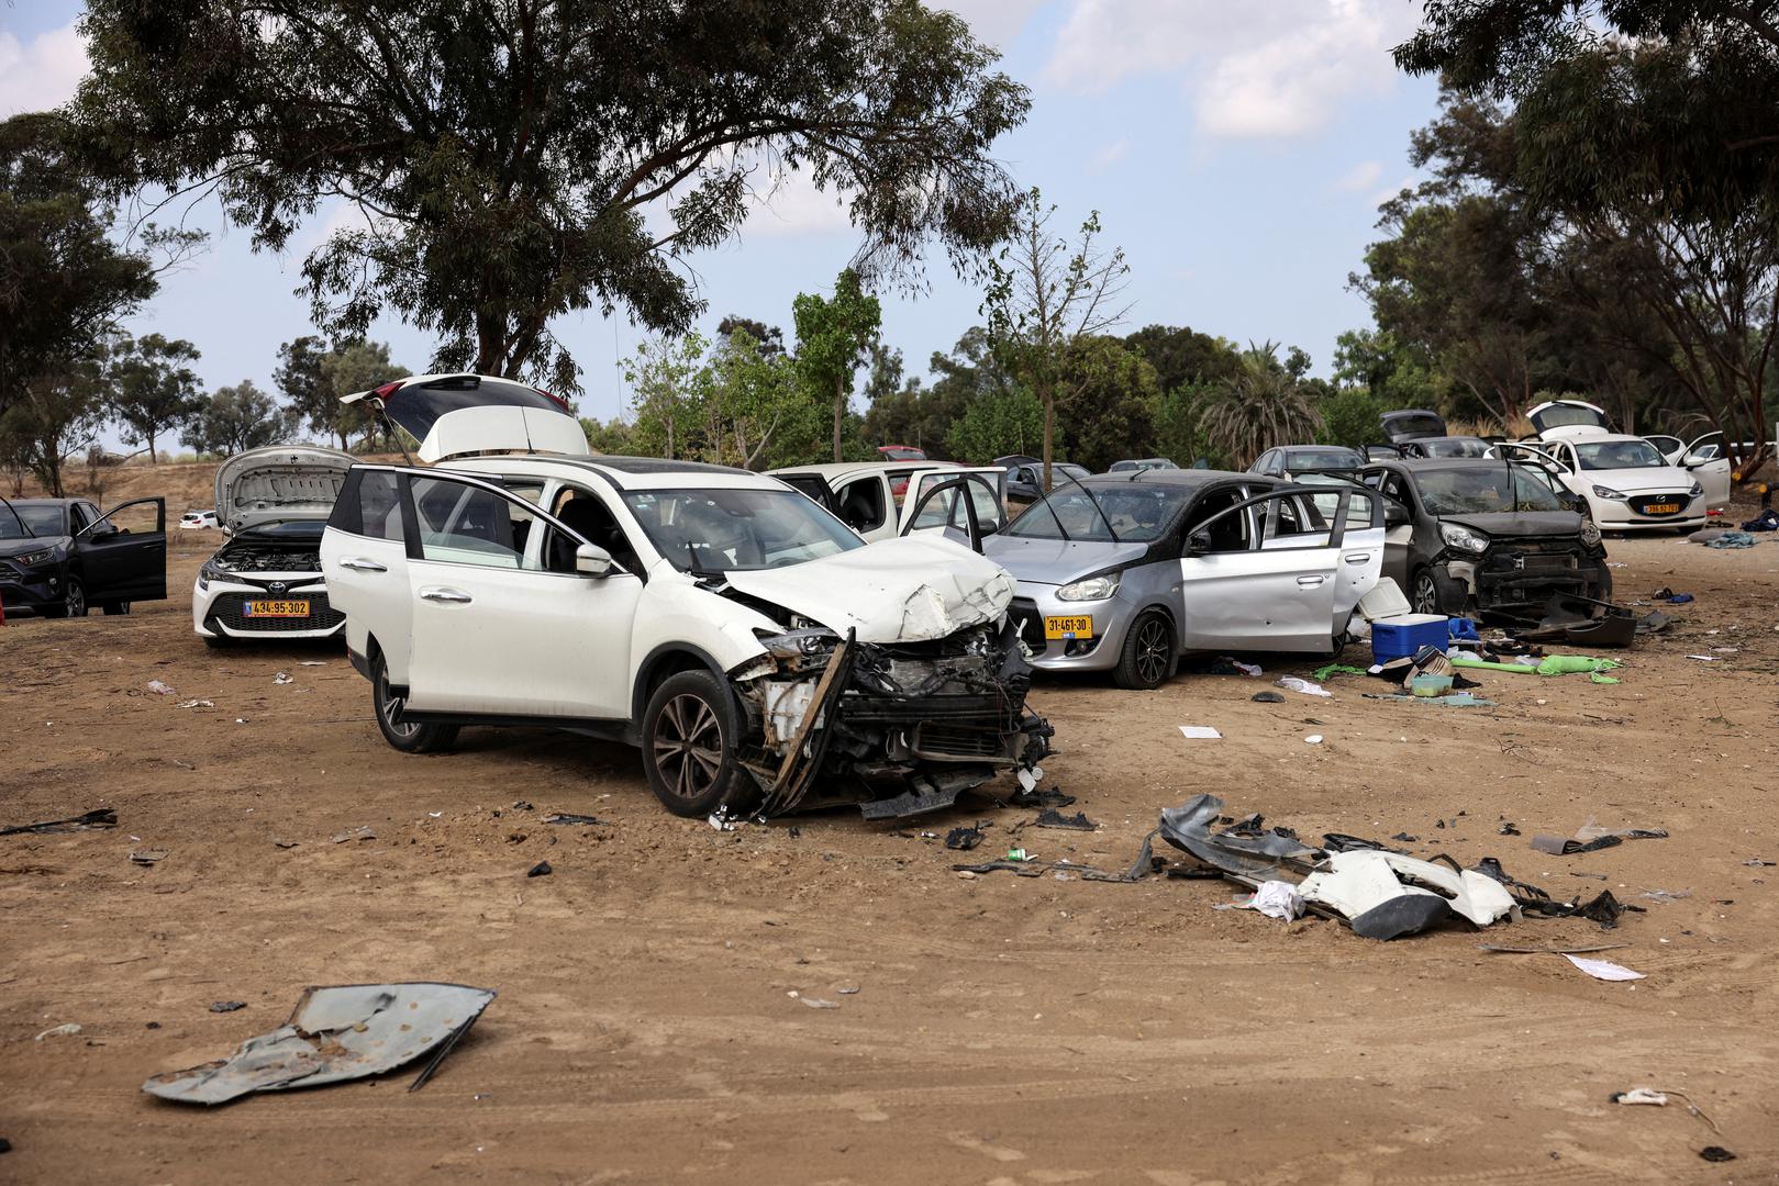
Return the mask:
<svg viewBox="0 0 1779 1186"><path fill-rule="evenodd" d="M1073 0L1046 76L1105 91L1178 75L1203 133L1297 137L1345 100L1395 85L1389 50L1420 18L1402 0Z"/></svg>

